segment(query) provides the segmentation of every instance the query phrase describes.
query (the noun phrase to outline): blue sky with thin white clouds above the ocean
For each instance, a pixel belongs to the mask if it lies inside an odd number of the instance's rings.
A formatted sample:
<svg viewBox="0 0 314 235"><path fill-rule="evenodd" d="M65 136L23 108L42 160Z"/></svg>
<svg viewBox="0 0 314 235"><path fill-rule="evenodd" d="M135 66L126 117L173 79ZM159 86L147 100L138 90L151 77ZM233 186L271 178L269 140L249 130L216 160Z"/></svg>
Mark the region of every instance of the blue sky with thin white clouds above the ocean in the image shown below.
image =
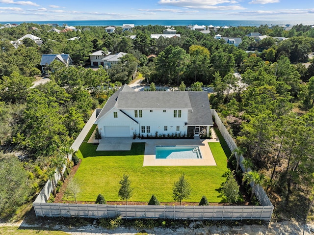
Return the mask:
<svg viewBox="0 0 314 235"><path fill-rule="evenodd" d="M3 22L132 19L314 24L314 0L0 0Z"/></svg>

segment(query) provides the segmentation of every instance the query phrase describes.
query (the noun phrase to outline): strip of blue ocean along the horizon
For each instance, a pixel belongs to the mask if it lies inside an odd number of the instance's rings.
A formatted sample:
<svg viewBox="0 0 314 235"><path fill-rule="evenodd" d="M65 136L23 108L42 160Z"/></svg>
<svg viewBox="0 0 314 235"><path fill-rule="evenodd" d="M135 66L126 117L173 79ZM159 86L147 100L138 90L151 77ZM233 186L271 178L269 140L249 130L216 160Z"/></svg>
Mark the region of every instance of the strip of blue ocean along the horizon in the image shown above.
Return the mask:
<svg viewBox="0 0 314 235"><path fill-rule="evenodd" d="M0 24L21 24L23 22L0 22ZM58 24L62 26L122 26L123 24L134 24L135 26L282 26L282 25L314 25L314 21L230 21L230 20L104 20L104 21L26 21L26 23L35 24Z"/></svg>

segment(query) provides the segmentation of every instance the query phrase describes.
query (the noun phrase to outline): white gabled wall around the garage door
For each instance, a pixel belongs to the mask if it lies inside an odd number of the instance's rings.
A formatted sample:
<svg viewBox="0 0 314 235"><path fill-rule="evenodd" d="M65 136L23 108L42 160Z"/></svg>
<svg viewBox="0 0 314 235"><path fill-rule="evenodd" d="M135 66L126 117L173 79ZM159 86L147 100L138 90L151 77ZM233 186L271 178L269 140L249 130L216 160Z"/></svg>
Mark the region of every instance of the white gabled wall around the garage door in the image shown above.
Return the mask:
<svg viewBox="0 0 314 235"><path fill-rule="evenodd" d="M117 118L113 117L113 112L118 113ZM130 136L133 136L134 131L138 133L139 130L138 124L136 122L116 108L111 109L101 120L98 121L98 128L102 137L105 137L105 126L130 126Z"/></svg>

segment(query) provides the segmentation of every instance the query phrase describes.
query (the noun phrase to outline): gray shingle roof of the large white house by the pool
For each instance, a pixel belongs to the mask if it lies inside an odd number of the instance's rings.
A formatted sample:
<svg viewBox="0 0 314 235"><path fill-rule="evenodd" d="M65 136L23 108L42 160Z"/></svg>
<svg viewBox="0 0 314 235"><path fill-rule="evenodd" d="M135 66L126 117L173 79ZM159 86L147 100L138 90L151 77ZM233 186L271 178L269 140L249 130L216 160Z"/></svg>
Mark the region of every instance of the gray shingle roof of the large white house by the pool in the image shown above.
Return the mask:
<svg viewBox="0 0 314 235"><path fill-rule="evenodd" d="M108 99L95 123L113 107L117 109L188 109L187 125L213 125L208 93L202 91L135 92L125 84Z"/></svg>

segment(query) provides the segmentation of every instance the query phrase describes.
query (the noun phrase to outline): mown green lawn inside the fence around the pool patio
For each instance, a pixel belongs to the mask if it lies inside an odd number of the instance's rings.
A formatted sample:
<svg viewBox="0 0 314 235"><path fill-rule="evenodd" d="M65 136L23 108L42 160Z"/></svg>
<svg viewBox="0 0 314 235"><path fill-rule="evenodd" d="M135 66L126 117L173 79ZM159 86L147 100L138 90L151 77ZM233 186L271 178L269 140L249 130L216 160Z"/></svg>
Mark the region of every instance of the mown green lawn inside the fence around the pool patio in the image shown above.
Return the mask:
<svg viewBox="0 0 314 235"><path fill-rule="evenodd" d="M155 194L161 202L173 202L173 183L184 173L192 193L189 199L183 200L183 205L199 202L203 195L209 202L221 202L217 189L225 182L222 175L229 171L227 157L220 143L209 143L209 147L217 166L143 167L145 143L133 143L131 151L96 151L96 145L82 143L78 151L82 162L75 175L81 185L78 201L95 201L99 193L107 201L121 201L119 181L123 174L128 174L134 187L129 201L148 202Z"/></svg>

